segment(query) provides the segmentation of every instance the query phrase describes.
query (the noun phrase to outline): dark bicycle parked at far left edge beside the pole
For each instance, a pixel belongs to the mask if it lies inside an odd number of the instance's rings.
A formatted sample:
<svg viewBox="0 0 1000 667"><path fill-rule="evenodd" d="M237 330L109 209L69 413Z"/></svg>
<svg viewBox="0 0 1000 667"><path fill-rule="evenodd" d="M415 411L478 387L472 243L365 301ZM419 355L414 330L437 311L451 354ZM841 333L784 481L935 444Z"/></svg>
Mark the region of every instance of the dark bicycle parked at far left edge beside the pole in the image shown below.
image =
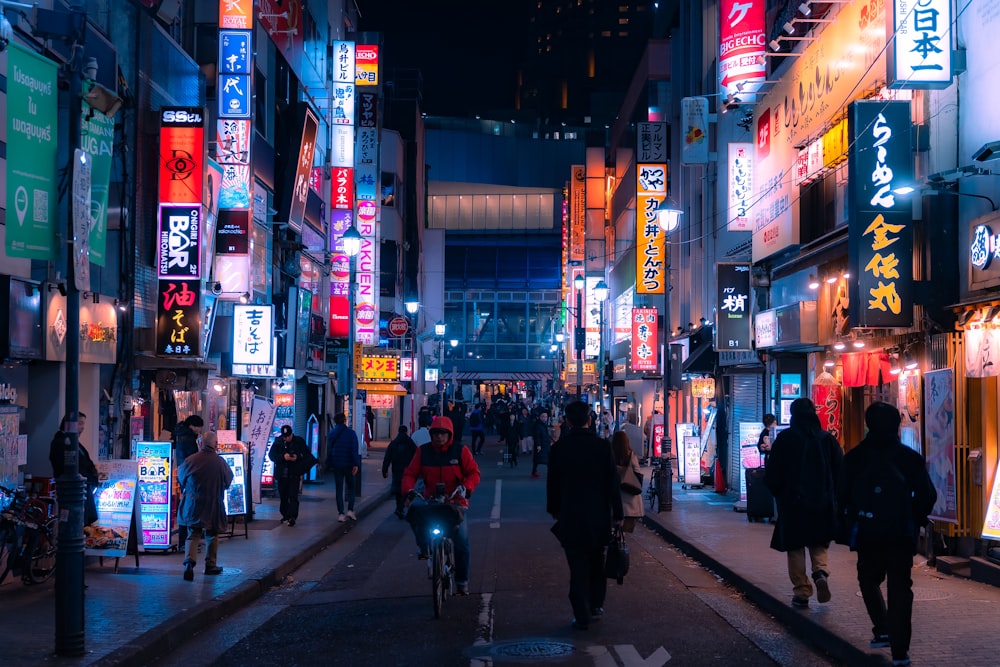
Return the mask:
<svg viewBox="0 0 1000 667"><path fill-rule="evenodd" d="M57 517L49 502L0 487L0 584L8 574L40 584L56 571Z"/></svg>

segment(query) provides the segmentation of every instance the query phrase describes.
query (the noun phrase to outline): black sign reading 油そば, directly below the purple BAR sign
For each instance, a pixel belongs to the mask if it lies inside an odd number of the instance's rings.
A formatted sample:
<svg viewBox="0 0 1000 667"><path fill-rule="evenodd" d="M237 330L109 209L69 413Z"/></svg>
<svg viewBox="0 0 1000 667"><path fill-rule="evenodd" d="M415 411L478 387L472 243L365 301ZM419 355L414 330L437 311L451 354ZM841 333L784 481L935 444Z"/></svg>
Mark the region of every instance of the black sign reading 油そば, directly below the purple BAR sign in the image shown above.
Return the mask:
<svg viewBox="0 0 1000 667"><path fill-rule="evenodd" d="M160 281L156 297L156 354L201 356L201 281Z"/></svg>

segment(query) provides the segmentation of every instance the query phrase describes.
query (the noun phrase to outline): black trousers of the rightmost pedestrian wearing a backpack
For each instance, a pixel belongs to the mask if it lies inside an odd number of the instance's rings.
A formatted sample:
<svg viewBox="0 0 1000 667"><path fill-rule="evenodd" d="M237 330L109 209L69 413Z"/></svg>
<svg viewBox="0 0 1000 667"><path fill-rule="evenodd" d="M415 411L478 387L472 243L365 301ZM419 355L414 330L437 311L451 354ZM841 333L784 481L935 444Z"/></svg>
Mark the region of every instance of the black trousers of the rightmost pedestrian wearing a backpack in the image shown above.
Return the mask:
<svg viewBox="0 0 1000 667"><path fill-rule="evenodd" d="M872 620L872 633L889 635L893 659L910 650L913 613L913 550L909 544L858 549L858 586ZM879 586L886 581L889 605Z"/></svg>

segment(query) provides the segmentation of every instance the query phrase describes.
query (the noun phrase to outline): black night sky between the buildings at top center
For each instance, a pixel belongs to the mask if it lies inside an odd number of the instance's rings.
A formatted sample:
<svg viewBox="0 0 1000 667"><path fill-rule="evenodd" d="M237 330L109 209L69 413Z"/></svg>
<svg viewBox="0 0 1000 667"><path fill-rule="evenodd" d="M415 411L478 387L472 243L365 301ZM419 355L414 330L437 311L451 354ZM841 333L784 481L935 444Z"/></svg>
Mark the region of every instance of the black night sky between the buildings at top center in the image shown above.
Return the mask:
<svg viewBox="0 0 1000 667"><path fill-rule="evenodd" d="M427 114L468 117L513 108L518 54L527 46L526 11L518 9L524 0L357 0L357 4L359 30L383 34L385 67L422 72Z"/></svg>

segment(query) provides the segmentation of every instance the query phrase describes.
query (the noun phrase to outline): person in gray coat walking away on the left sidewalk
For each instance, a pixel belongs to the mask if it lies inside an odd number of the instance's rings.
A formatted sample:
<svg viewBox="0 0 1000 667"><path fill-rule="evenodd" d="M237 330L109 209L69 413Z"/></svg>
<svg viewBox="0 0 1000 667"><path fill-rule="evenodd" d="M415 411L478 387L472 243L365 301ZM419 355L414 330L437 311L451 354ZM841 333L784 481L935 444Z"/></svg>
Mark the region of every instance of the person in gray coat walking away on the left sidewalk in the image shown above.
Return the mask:
<svg viewBox="0 0 1000 667"><path fill-rule="evenodd" d="M205 574L222 574L216 565L219 555L219 533L228 528L223 494L233 481L233 470L216 451L218 436L215 431L204 433L197 454L184 459L177 469L180 484L181 506L178 511L181 525L187 526L187 544L184 552L184 580L194 580L198 545L205 540Z"/></svg>

